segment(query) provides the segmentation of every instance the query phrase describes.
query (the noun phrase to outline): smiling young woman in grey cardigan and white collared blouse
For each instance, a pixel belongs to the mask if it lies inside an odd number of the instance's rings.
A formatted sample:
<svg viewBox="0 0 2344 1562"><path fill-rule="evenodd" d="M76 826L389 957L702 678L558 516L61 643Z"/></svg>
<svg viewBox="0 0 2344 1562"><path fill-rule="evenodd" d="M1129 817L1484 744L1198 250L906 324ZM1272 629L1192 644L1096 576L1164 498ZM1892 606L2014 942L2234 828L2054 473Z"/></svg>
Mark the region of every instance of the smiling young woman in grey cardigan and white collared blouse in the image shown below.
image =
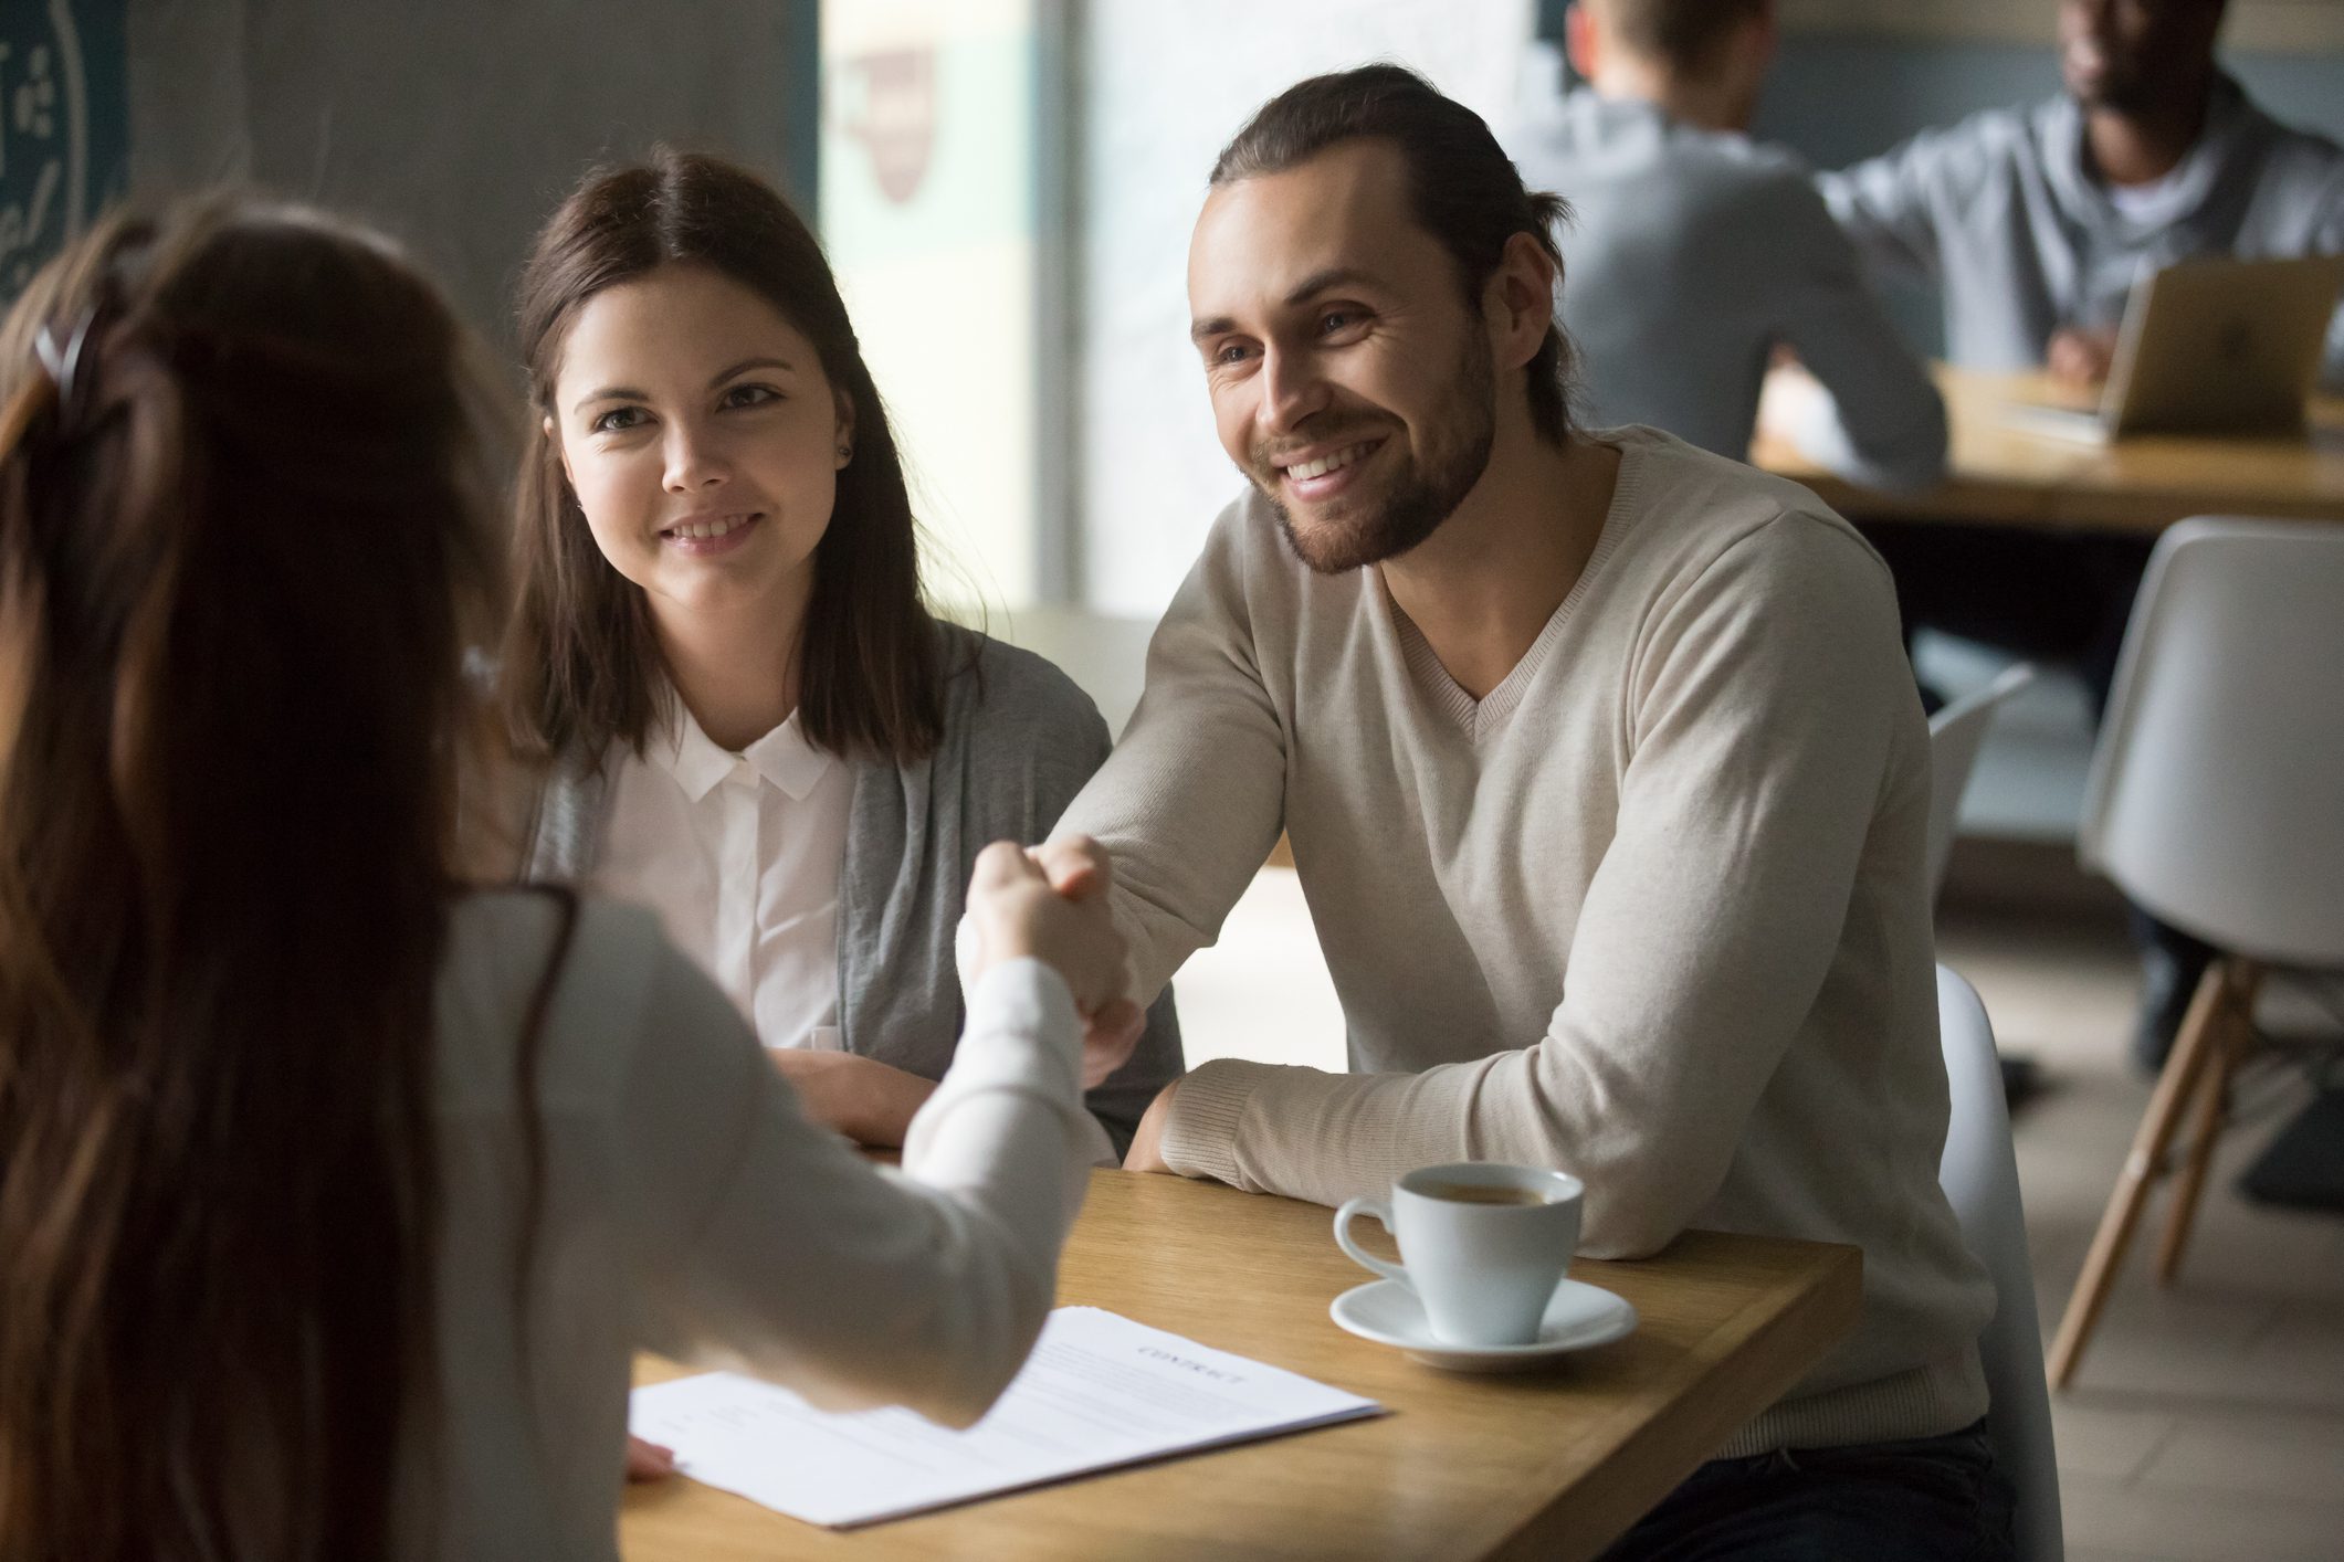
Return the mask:
<svg viewBox="0 0 2344 1562"><path fill-rule="evenodd" d="M506 642L548 768L523 876L649 904L809 1110L900 1143L961 1028L977 848L1106 756L1045 660L938 623L886 407L823 251L731 164L591 176L537 239ZM1170 995L1090 1091L1120 1155L1179 1073Z"/></svg>

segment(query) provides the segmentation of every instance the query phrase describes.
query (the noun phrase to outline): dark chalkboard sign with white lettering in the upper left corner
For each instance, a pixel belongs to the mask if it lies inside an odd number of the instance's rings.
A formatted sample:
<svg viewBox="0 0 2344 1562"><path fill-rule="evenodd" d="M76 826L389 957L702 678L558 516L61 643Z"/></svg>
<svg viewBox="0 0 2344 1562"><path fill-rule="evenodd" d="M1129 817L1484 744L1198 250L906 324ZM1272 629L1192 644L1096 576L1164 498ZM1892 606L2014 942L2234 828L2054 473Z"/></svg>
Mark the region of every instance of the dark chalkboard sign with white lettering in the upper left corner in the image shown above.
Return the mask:
<svg viewBox="0 0 2344 1562"><path fill-rule="evenodd" d="M129 178L127 5L0 5L0 304Z"/></svg>

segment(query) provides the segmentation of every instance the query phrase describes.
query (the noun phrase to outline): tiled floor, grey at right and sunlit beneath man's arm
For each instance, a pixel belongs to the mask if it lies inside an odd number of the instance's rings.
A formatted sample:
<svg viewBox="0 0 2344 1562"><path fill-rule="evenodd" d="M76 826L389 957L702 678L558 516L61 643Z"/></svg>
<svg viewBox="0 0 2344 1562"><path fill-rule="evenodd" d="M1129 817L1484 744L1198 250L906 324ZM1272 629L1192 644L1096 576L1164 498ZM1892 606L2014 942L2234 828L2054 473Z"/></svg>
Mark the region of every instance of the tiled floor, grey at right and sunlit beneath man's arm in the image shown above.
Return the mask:
<svg viewBox="0 0 2344 1562"><path fill-rule="evenodd" d="M2124 1068L2133 962L2091 892L2056 911L1950 909L1941 955L1985 995L2011 1051L2051 1089L2018 1117L2037 1302L2056 1328L2149 1087ZM1343 1023L1289 871L1268 869L1221 944L1179 979L1188 1059L1256 1056L1341 1068ZM2278 1023L2304 1028L2304 1005ZM2133 1262L2077 1384L2053 1400L2067 1555L2074 1562L2344 1560L2344 1220L2264 1211L2236 1171L2304 1098L2299 1070L2262 1066L2241 1089L2182 1274L2159 1290Z"/></svg>

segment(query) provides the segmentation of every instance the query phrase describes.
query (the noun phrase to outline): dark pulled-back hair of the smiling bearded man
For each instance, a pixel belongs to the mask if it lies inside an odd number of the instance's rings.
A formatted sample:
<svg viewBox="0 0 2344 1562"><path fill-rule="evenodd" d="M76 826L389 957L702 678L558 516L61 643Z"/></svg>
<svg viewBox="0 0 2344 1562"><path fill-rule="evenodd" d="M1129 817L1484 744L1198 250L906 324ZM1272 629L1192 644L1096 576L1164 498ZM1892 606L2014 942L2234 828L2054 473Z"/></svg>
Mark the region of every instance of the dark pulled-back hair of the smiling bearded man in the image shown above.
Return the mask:
<svg viewBox="0 0 2344 1562"><path fill-rule="evenodd" d="M1556 194L1524 190L1521 173L1481 115L1444 98L1406 66L1360 66L1287 87L1221 148L1212 183L1285 173L1362 136L1399 148L1409 171L1409 211L1456 262L1467 309L1481 307L1481 288L1498 274L1514 234L1531 234L1561 276L1563 251L1554 229L1570 220L1570 206ZM1570 342L1559 323L1547 321L1547 340L1526 372L1531 426L1561 445L1570 433Z"/></svg>

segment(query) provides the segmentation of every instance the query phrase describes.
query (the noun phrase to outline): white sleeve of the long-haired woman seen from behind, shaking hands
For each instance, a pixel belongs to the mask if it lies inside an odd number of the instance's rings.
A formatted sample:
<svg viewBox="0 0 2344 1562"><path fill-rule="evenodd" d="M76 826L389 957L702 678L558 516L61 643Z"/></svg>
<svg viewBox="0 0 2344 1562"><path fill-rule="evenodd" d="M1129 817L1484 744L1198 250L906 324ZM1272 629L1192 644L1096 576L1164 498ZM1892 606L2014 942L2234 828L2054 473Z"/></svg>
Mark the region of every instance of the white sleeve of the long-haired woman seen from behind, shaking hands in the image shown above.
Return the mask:
<svg viewBox="0 0 2344 1562"><path fill-rule="evenodd" d="M902 1173L811 1124L682 955L661 951L645 1014L661 1033L635 1044L614 1166L645 1344L830 1407L984 1414L1050 1311L1088 1180L1057 972L1006 960L975 984Z"/></svg>

